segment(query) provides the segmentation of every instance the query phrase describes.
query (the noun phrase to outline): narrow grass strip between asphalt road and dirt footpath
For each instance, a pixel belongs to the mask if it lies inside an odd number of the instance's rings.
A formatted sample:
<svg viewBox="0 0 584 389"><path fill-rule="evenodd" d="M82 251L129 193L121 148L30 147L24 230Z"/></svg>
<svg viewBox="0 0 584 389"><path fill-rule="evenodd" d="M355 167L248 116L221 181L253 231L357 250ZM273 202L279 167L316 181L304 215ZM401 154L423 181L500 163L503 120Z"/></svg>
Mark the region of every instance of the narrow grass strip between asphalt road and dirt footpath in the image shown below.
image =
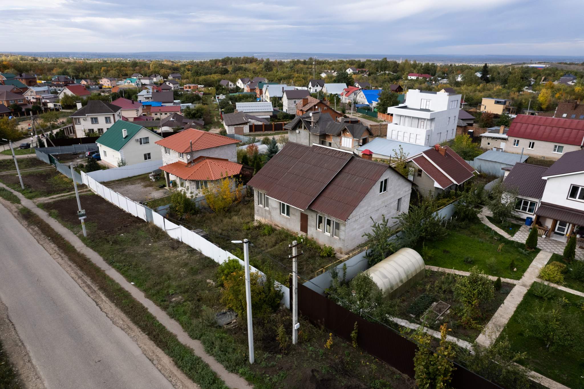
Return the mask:
<svg viewBox="0 0 584 389"><path fill-rule="evenodd" d="M172 358L176 366L199 384L203 389L226 389L221 378L205 363L200 357L194 355L193 350L183 345L176 339L164 325L123 289L120 284L106 275L102 269L98 268L85 255L77 251L60 234L55 232L45 221L34 214L26 207L20 208L22 217L32 225L35 225L50 238L53 244L57 245L61 251L67 254L70 261L75 263L86 276L90 277L99 290L112 301L124 314L131 319L166 355Z"/></svg>

